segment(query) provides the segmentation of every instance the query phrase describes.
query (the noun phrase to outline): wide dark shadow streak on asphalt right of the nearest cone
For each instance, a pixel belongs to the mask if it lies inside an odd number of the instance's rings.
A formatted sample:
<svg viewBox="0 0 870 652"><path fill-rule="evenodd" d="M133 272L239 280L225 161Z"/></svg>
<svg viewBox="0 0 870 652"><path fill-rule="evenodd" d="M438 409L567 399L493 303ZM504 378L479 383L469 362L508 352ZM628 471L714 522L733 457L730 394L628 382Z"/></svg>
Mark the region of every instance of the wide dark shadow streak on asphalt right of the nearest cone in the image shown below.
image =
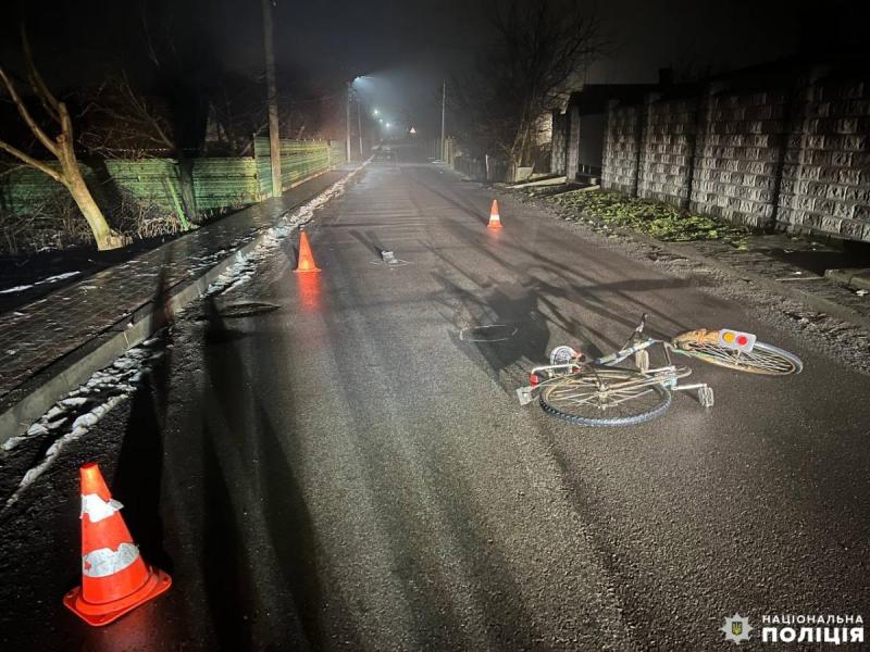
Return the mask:
<svg viewBox="0 0 870 652"><path fill-rule="evenodd" d="M345 610L340 595L325 594L324 581L333 582L319 568L311 514L291 464L295 434L282 428L278 435L264 403L250 390L259 377L257 354L250 354L257 334L227 328L213 298L207 300L206 316L203 574L208 578L213 562L223 560L219 567L236 585L228 591L221 588L223 580L212 579L208 587L215 632L222 649L259 649L260 628L269 625L279 649L321 649L331 639L331 624L322 616L325 605ZM261 572L252 572L251 564ZM262 569L271 570L268 579ZM268 604L285 609L252 630L241 615ZM343 637L353 640L352 632L343 631Z"/></svg>

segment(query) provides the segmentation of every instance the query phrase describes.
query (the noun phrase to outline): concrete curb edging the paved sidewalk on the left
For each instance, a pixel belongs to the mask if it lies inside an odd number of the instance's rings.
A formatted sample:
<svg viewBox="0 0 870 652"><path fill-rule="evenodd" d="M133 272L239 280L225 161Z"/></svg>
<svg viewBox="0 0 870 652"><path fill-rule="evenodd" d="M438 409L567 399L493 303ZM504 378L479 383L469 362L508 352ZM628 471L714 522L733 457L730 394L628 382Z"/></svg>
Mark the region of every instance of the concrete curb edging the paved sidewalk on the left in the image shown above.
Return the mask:
<svg viewBox="0 0 870 652"><path fill-rule="evenodd" d="M348 172L343 178L348 179L356 175L364 164ZM320 176L320 175L318 175ZM315 177L311 177L312 179ZM308 180L308 179L307 179ZM340 180L340 179L339 179ZM337 183L337 181L336 181ZM300 205L326 192L332 185L315 192L291 206L287 206L281 214L284 217ZM183 280L170 288L170 298L166 306L173 312L179 312L195 299L206 293L209 286L221 274L233 266L239 258L245 258L265 240L274 226L258 229L250 242L228 251L194 280ZM139 309L117 322L103 333L95 336L69 354L55 360L46 368L37 373L14 393L14 403L0 414L0 446L12 437L24 432L32 423L42 416L55 402L87 381L96 372L105 368L129 349L139 346L164 324L163 306L156 310L153 301L148 301ZM11 392L12 393L12 392Z"/></svg>

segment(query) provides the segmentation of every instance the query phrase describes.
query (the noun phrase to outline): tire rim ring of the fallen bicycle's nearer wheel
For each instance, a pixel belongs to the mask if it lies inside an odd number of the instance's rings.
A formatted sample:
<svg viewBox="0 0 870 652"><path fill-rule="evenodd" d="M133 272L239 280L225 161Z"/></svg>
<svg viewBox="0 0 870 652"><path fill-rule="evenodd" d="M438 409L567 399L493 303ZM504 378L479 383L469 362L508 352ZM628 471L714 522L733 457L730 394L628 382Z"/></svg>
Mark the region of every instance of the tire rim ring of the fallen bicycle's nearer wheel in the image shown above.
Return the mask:
<svg viewBox="0 0 870 652"><path fill-rule="evenodd" d="M584 414L572 414L567 411L564 405L556 405L556 400L554 399L554 393L559 389L564 389L567 387L571 387L572 385L580 385L585 384L589 385L591 379L601 377L606 377L612 380L619 380L622 378L623 380L631 381L644 381L639 387L646 388L647 392L651 391L655 397L655 403L652 406L643 410L636 414L624 415L624 416L588 416ZM671 392L663 387L660 383L646 383L649 380L648 376L641 374L639 372L635 372L633 369L623 369L619 367L597 367L594 365L588 365L581 371L580 374L574 374L571 376L566 376L564 378L560 378L546 387L542 388L540 394L538 397L538 402L540 403L540 409L551 416L556 418L560 418L568 423L577 425L577 426L588 426L588 427L612 427L612 426L632 426L636 424L642 424L648 421L652 421L664 414L668 408L671 405L672 396ZM645 392L645 393L647 393ZM601 392L599 392L600 394ZM605 398L605 397L601 397ZM601 411L606 411L608 405L598 404L597 408ZM611 410L611 413L616 411L616 406Z"/></svg>

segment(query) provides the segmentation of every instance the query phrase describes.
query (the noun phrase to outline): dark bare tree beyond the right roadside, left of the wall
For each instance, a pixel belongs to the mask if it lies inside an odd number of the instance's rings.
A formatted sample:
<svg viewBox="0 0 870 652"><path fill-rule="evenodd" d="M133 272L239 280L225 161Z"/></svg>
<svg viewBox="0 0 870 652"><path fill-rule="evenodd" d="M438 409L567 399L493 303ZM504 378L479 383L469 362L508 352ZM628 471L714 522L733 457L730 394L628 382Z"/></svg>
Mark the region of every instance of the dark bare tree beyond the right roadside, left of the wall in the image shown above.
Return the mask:
<svg viewBox="0 0 870 652"><path fill-rule="evenodd" d="M600 30L572 0L494 0L487 15L492 47L451 84L453 123L515 168L533 161L540 116L581 82L601 49Z"/></svg>

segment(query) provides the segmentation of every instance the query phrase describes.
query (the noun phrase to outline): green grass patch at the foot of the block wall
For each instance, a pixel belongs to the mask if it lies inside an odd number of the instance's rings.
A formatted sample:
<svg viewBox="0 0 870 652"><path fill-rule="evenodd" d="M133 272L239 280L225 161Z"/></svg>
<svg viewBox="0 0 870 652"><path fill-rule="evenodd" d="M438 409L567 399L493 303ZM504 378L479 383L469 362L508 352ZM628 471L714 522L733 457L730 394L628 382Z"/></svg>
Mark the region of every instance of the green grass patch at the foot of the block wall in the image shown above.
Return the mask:
<svg viewBox="0 0 870 652"><path fill-rule="evenodd" d="M753 234L747 226L729 224L707 215L681 215L678 209L669 204L632 199L610 190L572 190L550 201L608 226L636 229L664 242L724 240L745 249L746 238Z"/></svg>

